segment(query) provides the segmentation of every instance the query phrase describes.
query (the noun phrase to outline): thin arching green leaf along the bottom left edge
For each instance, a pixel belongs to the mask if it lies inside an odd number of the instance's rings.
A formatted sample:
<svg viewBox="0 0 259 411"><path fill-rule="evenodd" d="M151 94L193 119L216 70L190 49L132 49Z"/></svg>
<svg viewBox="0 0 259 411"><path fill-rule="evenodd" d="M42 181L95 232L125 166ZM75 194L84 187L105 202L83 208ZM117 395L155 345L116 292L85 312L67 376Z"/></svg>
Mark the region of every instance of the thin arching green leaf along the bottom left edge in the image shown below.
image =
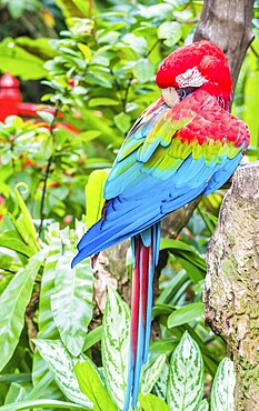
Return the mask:
<svg viewBox="0 0 259 411"><path fill-rule="evenodd" d="M64 402L64 401L57 401L57 400L32 400L32 401L21 401L17 402L14 404L7 404L0 407L1 411L20 411L20 410L31 410L34 408L43 408L43 409L51 409L51 408L58 408L58 409L71 409L71 410L89 410L88 408L84 408L82 405L74 404L72 402Z"/></svg>

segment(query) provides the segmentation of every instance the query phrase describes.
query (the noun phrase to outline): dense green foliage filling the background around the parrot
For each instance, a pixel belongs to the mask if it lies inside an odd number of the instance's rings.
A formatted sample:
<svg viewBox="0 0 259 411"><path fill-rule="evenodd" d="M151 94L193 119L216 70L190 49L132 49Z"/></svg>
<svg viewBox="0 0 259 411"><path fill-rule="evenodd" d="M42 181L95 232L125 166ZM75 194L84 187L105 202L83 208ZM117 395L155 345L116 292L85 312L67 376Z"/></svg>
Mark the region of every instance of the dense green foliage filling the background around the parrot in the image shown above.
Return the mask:
<svg viewBox="0 0 259 411"><path fill-rule="evenodd" d="M33 90L44 96L34 118L10 116L0 123L0 409L92 409L93 403L94 410L108 404L121 410L129 308L110 289L104 327L96 324L93 301L104 285L93 288L89 260L73 270L70 263L84 225L100 215L118 148L159 96L158 64L191 41L202 2L19 4L1 0L8 24L0 70L19 77L24 99ZM31 32L36 11L38 31ZM256 34L257 24L255 18ZM247 53L233 103L251 131L251 160L259 156L258 41ZM219 192L202 200L179 241L161 241L169 258L153 308L160 339L150 345L138 410L209 407L203 398L226 355L223 342L203 324L202 303L205 252L221 198ZM101 355L96 354L100 340ZM223 360L217 371L211 410L232 409L231 367Z"/></svg>

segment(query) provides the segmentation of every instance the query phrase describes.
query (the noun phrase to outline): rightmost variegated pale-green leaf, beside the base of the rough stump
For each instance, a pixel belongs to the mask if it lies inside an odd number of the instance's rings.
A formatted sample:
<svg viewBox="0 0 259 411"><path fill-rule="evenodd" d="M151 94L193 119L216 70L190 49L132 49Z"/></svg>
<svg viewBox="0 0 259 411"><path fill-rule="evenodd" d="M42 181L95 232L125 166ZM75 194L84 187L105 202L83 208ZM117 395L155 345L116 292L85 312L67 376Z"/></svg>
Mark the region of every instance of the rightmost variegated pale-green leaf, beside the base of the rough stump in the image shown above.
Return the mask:
<svg viewBox="0 0 259 411"><path fill-rule="evenodd" d="M233 389L236 374L233 363L225 358L216 372L211 390L211 411L233 410Z"/></svg>

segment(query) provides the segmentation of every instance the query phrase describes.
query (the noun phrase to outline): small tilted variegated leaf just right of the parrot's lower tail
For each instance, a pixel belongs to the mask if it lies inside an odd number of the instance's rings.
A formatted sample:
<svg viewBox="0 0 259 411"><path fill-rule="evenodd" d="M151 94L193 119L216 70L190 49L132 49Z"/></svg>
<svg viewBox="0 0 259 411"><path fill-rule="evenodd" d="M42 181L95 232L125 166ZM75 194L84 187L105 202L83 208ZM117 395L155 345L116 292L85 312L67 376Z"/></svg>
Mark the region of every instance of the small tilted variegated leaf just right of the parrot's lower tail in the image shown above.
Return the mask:
<svg viewBox="0 0 259 411"><path fill-rule="evenodd" d="M142 394L148 394L151 392L153 385L158 381L165 365L166 365L167 355L160 355L156 361L150 365L149 363L143 368L143 382L141 385Z"/></svg>

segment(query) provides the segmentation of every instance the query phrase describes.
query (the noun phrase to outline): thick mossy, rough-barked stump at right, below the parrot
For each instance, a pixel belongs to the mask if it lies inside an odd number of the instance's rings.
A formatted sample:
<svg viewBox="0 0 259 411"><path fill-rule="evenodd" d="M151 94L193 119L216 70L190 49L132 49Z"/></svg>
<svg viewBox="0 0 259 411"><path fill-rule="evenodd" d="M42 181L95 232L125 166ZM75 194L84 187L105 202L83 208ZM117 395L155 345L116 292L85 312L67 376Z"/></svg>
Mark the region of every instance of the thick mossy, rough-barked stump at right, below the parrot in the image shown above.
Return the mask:
<svg viewBox="0 0 259 411"><path fill-rule="evenodd" d="M259 410L259 162L235 172L207 263L206 322L233 359L235 411Z"/></svg>

